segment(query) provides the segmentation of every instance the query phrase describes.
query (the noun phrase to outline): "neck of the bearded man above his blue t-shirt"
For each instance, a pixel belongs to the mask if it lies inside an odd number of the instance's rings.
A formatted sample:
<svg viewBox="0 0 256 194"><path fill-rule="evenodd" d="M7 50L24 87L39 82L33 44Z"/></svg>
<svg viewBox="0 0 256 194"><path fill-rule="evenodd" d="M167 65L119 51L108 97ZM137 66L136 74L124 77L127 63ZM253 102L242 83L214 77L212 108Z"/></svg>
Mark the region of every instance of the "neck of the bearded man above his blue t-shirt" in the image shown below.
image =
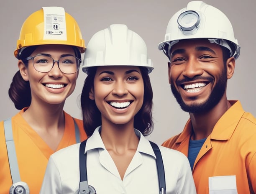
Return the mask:
<svg viewBox="0 0 256 194"><path fill-rule="evenodd" d="M225 99L220 100L212 110L203 114L189 113L193 128L191 139L200 140L207 138L212 133L212 130L220 117L222 117L230 107L230 102Z"/></svg>

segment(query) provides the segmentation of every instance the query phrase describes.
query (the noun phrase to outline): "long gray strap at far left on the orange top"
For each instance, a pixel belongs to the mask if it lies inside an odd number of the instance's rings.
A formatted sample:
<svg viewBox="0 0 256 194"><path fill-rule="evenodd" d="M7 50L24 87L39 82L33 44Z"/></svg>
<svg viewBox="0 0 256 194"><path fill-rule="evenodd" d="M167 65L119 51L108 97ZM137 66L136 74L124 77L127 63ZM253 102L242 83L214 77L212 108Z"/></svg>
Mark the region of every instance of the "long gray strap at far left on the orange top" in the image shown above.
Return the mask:
<svg viewBox="0 0 256 194"><path fill-rule="evenodd" d="M4 121L4 130L5 130L5 143L8 153L8 160L10 165L10 172L12 176L13 183L20 181L20 171L18 168L18 161L15 151L15 145L13 141L13 129L12 129L12 120L8 118Z"/></svg>

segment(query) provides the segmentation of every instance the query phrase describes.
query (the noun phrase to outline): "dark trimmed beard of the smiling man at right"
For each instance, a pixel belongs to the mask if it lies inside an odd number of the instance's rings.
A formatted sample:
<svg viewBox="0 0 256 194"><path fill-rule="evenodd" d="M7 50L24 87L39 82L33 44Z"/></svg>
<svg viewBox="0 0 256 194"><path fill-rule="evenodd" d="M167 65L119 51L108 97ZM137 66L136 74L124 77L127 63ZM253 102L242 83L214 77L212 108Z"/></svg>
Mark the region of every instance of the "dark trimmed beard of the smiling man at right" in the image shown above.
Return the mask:
<svg viewBox="0 0 256 194"><path fill-rule="evenodd" d="M226 91L226 86L228 82L228 79L226 78L226 72L227 70L226 68L224 68L224 71L220 76L220 80L216 83L215 87L212 89L212 92L210 93L210 96L204 102L192 103L191 105L185 104L173 83L171 83L172 94L174 95L182 110L184 110L185 112L197 114L209 112L210 110L212 110L213 107L215 107L220 102L221 98L223 97ZM198 78L200 77L197 77L197 79ZM195 80L195 78L191 79L190 81L192 80ZM194 99L192 98L191 100L195 100L196 98L197 97L195 97Z"/></svg>

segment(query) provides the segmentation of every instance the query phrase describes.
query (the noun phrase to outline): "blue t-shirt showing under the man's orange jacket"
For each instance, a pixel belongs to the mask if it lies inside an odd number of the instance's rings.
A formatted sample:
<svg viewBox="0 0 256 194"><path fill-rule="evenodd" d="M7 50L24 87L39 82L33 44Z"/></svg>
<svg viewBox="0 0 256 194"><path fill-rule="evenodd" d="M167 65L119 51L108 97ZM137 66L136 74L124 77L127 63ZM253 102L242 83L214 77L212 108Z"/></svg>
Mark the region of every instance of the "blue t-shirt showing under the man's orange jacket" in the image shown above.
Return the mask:
<svg viewBox="0 0 256 194"><path fill-rule="evenodd" d="M189 140L189 151L187 158L189 160L191 170L193 170L195 159L197 158L197 154L202 148L202 145L205 143L205 140L206 138L200 140Z"/></svg>

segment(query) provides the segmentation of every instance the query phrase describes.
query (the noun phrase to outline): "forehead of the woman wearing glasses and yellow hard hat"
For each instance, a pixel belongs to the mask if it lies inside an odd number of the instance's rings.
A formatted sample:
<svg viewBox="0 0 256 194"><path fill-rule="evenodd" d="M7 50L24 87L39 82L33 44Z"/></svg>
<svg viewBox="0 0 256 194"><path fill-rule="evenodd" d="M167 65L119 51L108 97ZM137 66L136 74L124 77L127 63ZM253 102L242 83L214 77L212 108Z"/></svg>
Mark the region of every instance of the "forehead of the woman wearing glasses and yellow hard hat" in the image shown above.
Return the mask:
<svg viewBox="0 0 256 194"><path fill-rule="evenodd" d="M74 49L69 45L57 45L57 44L47 44L39 45L33 54L45 53L45 54L73 54ZM32 55L33 55L32 54Z"/></svg>

